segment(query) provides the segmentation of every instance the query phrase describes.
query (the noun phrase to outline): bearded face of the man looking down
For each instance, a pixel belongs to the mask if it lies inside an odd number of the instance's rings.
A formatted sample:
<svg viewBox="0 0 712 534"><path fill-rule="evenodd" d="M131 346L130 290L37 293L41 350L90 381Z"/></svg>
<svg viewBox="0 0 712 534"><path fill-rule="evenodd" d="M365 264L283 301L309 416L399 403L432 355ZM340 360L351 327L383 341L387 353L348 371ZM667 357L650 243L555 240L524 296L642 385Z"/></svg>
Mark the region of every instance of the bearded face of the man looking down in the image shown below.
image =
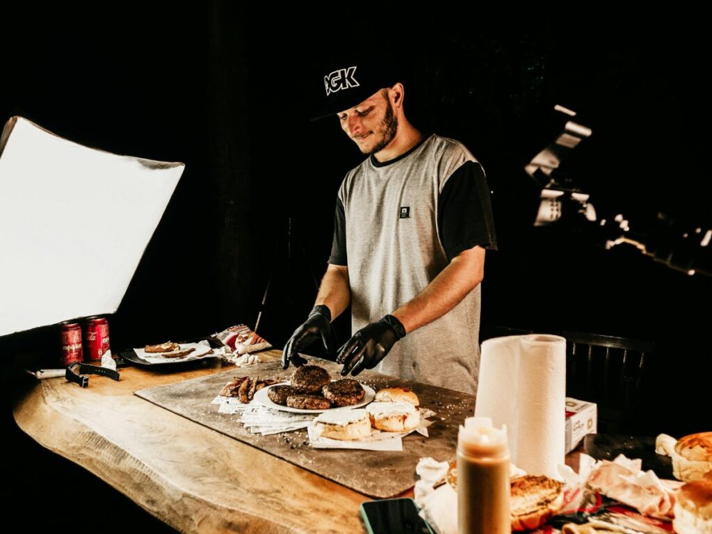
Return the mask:
<svg viewBox="0 0 712 534"><path fill-rule="evenodd" d="M341 129L365 155L375 154L388 146L398 128L398 120L388 100L387 89L382 89L355 108L337 113Z"/></svg>

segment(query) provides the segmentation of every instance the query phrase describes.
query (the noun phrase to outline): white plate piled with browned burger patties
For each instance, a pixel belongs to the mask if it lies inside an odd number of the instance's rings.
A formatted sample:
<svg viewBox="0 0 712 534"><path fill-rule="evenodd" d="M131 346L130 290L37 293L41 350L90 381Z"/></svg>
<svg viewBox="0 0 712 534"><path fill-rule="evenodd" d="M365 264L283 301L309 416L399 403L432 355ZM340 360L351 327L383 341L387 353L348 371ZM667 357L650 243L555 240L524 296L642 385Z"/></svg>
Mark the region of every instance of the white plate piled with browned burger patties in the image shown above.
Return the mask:
<svg viewBox="0 0 712 534"><path fill-rule="evenodd" d="M318 365L298 367L289 382L274 384L254 394L268 408L295 414L318 414L336 408L358 408L371 402L376 392L354 379L332 380Z"/></svg>

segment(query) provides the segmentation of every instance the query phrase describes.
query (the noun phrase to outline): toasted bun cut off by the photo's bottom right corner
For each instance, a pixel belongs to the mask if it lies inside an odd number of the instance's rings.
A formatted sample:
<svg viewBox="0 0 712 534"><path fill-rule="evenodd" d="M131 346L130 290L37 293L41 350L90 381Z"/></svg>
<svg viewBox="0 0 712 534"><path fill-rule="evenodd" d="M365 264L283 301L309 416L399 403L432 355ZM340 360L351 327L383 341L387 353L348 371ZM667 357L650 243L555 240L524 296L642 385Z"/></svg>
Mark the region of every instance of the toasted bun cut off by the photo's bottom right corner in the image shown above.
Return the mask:
<svg viewBox="0 0 712 534"><path fill-rule="evenodd" d="M712 534L712 472L677 493L673 526L678 534Z"/></svg>

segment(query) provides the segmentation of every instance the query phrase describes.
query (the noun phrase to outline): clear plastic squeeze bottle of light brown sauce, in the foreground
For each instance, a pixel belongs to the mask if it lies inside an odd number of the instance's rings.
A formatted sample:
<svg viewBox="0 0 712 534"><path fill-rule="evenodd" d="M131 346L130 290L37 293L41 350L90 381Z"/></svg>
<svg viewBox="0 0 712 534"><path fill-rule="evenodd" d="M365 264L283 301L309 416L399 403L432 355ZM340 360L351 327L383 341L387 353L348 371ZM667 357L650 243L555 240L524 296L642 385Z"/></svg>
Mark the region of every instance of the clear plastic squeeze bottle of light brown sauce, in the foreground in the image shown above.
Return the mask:
<svg viewBox="0 0 712 534"><path fill-rule="evenodd" d="M457 436L459 534L510 534L507 426L468 417Z"/></svg>

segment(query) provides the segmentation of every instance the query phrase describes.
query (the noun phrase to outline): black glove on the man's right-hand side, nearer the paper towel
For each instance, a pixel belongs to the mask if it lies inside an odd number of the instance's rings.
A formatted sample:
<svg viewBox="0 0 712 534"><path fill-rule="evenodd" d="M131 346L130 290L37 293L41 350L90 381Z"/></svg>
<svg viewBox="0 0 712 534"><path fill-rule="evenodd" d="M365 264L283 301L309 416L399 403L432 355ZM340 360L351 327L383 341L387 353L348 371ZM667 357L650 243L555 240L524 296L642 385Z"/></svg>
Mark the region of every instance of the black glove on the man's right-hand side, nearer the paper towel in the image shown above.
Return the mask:
<svg viewBox="0 0 712 534"><path fill-rule="evenodd" d="M393 315L366 325L340 348L336 362L344 365L341 375L351 372L356 376L362 370L373 369L402 337L405 337L405 328Z"/></svg>

